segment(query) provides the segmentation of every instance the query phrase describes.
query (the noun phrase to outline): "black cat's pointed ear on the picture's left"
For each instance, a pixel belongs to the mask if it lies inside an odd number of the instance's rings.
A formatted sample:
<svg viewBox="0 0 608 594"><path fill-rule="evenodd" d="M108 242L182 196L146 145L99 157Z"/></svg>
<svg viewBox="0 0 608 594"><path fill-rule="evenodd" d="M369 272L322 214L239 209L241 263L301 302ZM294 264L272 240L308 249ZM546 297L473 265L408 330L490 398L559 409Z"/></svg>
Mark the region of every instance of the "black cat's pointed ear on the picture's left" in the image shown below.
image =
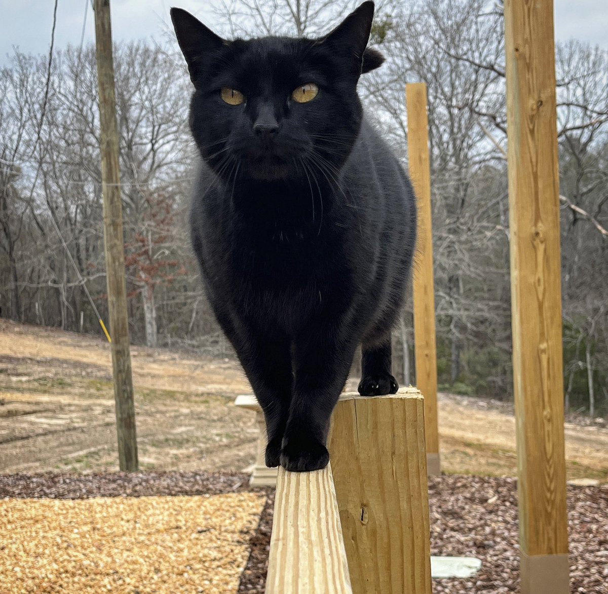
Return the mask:
<svg viewBox="0 0 608 594"><path fill-rule="evenodd" d="M171 21L173 21L179 48L188 64L190 80L196 83L204 64L205 55L228 42L213 33L209 27L204 26L186 10L171 9Z"/></svg>

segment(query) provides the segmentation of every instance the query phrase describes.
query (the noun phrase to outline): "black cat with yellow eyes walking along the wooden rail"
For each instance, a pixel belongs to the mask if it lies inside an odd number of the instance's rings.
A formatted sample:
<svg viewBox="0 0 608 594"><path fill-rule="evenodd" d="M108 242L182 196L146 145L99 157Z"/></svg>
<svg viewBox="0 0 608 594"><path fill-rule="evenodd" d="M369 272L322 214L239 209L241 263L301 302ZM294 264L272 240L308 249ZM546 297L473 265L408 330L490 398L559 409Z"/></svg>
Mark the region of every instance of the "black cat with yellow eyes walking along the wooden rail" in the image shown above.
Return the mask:
<svg viewBox="0 0 608 594"><path fill-rule="evenodd" d="M359 392L395 393L390 331L416 235L412 187L362 113L365 2L320 39L226 41L171 18L202 157L191 228L213 311L268 429L266 464L323 468L331 411L362 344Z"/></svg>

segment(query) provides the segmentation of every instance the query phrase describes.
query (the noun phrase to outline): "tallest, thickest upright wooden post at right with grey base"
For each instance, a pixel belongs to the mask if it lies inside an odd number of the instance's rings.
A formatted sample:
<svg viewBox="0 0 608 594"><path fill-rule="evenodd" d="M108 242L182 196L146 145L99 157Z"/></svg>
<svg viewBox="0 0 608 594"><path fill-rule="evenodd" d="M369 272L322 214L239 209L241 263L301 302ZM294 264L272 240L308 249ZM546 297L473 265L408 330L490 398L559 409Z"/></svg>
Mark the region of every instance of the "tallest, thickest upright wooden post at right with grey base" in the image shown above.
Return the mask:
<svg viewBox="0 0 608 594"><path fill-rule="evenodd" d="M506 0L505 36L522 594L566 594L553 0Z"/></svg>

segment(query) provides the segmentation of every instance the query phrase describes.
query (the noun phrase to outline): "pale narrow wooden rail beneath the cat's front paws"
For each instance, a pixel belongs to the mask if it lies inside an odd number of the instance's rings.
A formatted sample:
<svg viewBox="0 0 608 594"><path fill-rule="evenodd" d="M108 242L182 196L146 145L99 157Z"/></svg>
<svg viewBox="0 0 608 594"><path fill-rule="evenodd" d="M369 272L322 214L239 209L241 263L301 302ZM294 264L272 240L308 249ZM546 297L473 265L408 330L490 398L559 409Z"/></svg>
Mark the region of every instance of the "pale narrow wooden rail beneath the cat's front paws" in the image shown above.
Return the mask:
<svg viewBox="0 0 608 594"><path fill-rule="evenodd" d="M331 466L278 469L266 594L352 594Z"/></svg>

